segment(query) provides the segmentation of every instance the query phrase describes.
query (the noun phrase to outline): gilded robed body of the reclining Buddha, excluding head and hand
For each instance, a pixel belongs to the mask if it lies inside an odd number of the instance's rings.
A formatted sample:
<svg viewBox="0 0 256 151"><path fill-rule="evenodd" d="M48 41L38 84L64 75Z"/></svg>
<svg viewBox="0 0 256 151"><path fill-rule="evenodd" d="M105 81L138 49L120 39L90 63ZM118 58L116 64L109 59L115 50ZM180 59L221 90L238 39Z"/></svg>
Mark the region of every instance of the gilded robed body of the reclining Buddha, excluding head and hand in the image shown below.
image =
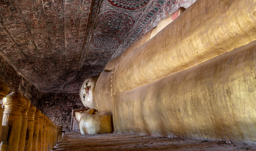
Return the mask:
<svg viewBox="0 0 256 151"><path fill-rule="evenodd" d="M256 0L197 0L109 61L92 108L114 132L255 142L255 25Z"/></svg>

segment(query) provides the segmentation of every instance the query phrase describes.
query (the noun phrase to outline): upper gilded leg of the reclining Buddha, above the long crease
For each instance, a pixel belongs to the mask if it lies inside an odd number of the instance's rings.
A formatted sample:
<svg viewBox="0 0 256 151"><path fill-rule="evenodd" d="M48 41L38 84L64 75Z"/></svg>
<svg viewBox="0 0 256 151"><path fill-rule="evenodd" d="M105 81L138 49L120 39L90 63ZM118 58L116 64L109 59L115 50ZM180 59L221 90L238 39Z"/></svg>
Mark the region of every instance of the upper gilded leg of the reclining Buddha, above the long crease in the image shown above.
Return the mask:
<svg viewBox="0 0 256 151"><path fill-rule="evenodd" d="M256 40L255 0L199 0L115 67L115 92L191 68Z"/></svg>

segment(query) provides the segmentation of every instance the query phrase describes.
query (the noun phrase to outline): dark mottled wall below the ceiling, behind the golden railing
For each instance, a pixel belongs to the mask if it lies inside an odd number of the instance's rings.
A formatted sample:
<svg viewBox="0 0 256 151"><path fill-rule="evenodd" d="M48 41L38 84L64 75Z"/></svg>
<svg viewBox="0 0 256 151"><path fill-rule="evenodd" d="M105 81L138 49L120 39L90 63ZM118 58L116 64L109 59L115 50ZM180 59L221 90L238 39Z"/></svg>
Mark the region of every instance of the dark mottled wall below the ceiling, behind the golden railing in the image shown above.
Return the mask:
<svg viewBox="0 0 256 151"><path fill-rule="evenodd" d="M79 93L40 93L33 83L30 83L0 55L0 78L10 87L10 92L19 91L28 97L54 124L69 127L72 109L81 108Z"/></svg>

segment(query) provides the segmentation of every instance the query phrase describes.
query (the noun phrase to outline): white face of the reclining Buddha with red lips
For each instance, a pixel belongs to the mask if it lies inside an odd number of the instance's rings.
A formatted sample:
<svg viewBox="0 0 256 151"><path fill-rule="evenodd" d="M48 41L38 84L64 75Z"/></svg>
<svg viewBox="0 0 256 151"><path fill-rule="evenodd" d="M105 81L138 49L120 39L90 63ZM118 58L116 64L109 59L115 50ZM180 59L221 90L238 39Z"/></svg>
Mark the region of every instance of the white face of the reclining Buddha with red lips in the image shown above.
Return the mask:
<svg viewBox="0 0 256 151"><path fill-rule="evenodd" d="M94 100L94 92L95 92L95 86L96 82L98 80L99 76L92 76L88 79L86 79L82 85L81 91L80 91L80 98L82 100L82 103L84 107L95 109L95 100Z"/></svg>

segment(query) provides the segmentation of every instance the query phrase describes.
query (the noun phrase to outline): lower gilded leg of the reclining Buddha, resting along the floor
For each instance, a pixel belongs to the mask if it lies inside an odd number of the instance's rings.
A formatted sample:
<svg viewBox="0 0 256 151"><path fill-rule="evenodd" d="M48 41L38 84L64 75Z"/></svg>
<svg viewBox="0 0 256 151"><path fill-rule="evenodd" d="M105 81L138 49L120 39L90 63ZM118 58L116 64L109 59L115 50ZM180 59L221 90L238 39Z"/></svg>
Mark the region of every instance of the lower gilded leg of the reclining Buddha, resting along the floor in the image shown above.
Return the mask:
<svg viewBox="0 0 256 151"><path fill-rule="evenodd" d="M188 70L116 93L116 131L255 141L255 50L253 42Z"/></svg>

